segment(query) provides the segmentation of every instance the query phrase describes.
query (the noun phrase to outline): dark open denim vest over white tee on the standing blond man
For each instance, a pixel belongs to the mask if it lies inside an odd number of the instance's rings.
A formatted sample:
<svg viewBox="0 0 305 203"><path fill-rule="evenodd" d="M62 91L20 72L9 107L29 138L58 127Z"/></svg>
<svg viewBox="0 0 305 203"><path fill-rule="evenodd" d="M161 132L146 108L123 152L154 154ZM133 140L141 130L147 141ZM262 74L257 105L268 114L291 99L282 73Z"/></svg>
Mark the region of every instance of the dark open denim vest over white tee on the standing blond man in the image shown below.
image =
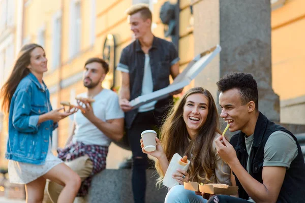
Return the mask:
<svg viewBox="0 0 305 203"><path fill-rule="evenodd" d="M153 91L163 89L169 85L169 76L171 69L171 42L154 37L153 45L149 49L149 64L151 75L153 77ZM130 100L137 98L142 94L142 83L144 76L145 53L142 51L138 40L132 42L126 47L129 50L129 88ZM173 101L172 96L158 100L155 105L155 111L163 114L168 110ZM125 113L125 126L130 128L138 114L138 109Z"/></svg>

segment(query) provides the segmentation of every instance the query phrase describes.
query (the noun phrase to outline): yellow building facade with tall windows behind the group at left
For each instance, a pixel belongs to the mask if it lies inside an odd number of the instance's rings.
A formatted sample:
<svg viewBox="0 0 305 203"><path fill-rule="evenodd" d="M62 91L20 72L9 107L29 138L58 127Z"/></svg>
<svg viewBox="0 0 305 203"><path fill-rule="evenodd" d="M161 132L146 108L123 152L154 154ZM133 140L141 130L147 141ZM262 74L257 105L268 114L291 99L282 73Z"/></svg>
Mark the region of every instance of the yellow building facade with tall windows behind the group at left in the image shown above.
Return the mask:
<svg viewBox="0 0 305 203"><path fill-rule="evenodd" d="M159 0L153 5L153 22L157 25L153 29L155 36L164 38L164 25L159 18L160 8L165 0ZM174 1L173 1L174 2ZM132 41L132 31L130 30L127 22L127 16L125 11L132 5L132 0L108 0L108 1L96 1L96 26L95 26L95 43L90 45L90 13L89 13L89 1L80 0L81 3L81 48L79 53L69 58L69 36L70 36L70 0L54 0L54 1L40 1L32 0L24 8L24 38L29 38L30 42L37 42L38 29L42 26L46 28L45 39L45 51L48 58L49 71L44 75L44 81L47 86L59 87L59 82L67 80L68 78L80 74L83 71L84 62L89 57L102 56L102 48L104 40L108 34L113 34L116 39L116 64L119 61L121 50L126 47ZM180 31L179 31L179 57L180 69L183 70L187 63L194 57L194 38L192 30L187 30L190 19L189 1L181 1L180 3ZM51 70L52 61L52 18L53 16L61 12L62 17L62 38L61 38L61 67L55 70ZM119 14L119 15L118 15ZM187 31L186 31L187 30ZM170 40L170 38L167 38ZM110 88L110 82L112 76L108 75L103 82L105 88ZM115 86L120 85L120 73L116 73ZM192 83L188 89L192 87ZM57 101L57 104L53 104L53 108L59 107L59 102L63 100L69 101L71 99L71 92L79 94L84 92L82 81L78 81L73 85L60 90L50 95L50 100ZM68 136L71 134L71 119L65 118L59 122L58 127L58 147L64 147ZM110 146L112 150L109 150L111 156L115 146ZM120 157L126 157L130 154L128 151L117 151ZM116 156L111 156L111 159L117 159ZM107 162L108 168L114 168L116 165L112 162Z"/></svg>

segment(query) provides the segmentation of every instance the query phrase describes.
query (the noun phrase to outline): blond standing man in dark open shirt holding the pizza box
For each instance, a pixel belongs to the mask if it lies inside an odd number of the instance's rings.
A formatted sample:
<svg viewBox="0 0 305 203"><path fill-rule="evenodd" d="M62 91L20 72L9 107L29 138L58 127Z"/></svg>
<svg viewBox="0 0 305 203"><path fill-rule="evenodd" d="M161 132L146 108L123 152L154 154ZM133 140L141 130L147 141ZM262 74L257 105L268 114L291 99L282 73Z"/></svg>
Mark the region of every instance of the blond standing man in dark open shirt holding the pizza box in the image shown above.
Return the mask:
<svg viewBox="0 0 305 203"><path fill-rule="evenodd" d="M139 109L132 109L129 101L167 87L169 76L174 79L179 74L179 57L173 43L151 33L151 12L147 5L134 5L127 14L136 40L123 49L117 66L117 70L122 73L119 104L125 112L125 127L133 153L134 200L144 202L147 155L139 145L141 132L160 126L172 96L153 101Z"/></svg>

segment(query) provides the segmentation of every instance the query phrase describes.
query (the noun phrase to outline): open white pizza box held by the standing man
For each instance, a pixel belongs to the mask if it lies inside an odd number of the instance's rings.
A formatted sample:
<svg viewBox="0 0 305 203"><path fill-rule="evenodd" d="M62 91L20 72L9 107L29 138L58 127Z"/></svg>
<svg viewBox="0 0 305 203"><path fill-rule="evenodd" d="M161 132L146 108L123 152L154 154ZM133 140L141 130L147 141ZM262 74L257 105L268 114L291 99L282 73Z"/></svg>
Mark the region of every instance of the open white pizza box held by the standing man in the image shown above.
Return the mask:
<svg viewBox="0 0 305 203"><path fill-rule="evenodd" d="M160 100L169 96L173 91L181 89L191 83L193 79L207 66L207 64L221 51L221 47L216 45L211 49L198 54L188 64L188 66L180 73L169 86L151 92L149 94L141 95L130 101L130 106L133 109L147 104L151 101Z"/></svg>

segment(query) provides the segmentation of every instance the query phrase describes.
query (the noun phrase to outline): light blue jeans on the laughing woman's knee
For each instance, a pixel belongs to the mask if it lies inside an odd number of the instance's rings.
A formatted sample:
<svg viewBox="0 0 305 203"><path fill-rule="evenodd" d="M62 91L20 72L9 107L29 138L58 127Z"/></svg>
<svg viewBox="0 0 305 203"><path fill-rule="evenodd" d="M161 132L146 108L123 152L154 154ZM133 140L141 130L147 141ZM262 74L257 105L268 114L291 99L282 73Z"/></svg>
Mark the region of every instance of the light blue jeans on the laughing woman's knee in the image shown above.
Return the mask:
<svg viewBox="0 0 305 203"><path fill-rule="evenodd" d="M172 187L165 197L164 203L206 203L207 199L195 194L194 191L184 189L183 185Z"/></svg>

